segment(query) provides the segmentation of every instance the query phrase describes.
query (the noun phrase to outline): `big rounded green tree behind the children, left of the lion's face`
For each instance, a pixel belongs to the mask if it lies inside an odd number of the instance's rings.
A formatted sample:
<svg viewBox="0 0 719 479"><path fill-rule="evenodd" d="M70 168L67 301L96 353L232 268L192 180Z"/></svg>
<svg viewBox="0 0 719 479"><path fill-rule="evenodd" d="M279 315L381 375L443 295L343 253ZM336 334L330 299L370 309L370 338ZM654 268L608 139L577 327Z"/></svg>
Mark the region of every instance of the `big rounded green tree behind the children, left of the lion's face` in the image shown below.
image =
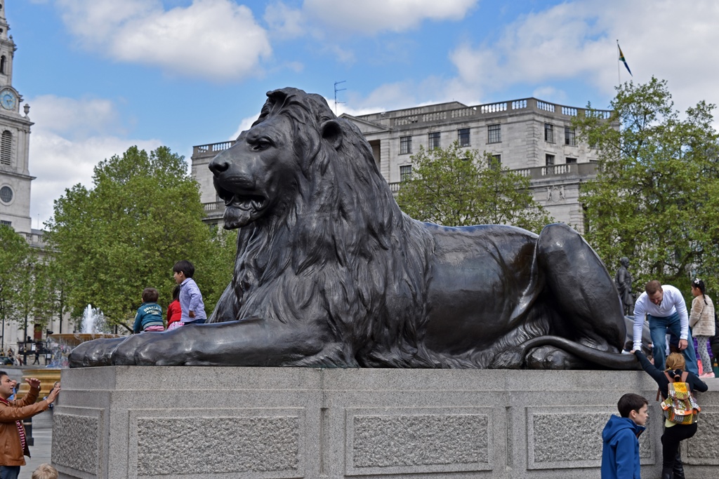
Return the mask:
<svg viewBox="0 0 719 479"><path fill-rule="evenodd" d="M172 267L180 259L196 264L196 280L213 307L232 277L232 263L226 271L204 267L214 265L224 242L203 217L198 185L184 158L170 149L147 154L131 147L100 162L93 187L65 190L46 224L55 251L52 271L64 279L62 293L73 316L92 304L110 325L132 329L143 289L155 287L160 304L170 302Z"/></svg>

